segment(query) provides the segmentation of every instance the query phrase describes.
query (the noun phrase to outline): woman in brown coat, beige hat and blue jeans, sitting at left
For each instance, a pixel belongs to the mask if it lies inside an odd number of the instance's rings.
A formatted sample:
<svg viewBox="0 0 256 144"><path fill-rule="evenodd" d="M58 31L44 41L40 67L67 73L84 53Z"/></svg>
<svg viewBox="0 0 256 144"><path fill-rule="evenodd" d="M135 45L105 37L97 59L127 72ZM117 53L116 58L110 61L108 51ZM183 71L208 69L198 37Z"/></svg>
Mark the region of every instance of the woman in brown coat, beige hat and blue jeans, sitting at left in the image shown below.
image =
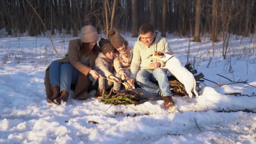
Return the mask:
<svg viewBox="0 0 256 144"><path fill-rule="evenodd" d="M45 72L47 102L61 104L61 101L67 101L71 85L75 85L74 99L90 98L88 88L93 78L99 77L91 69L99 51L98 39L93 26L83 27L81 38L70 40L66 57L50 64Z"/></svg>

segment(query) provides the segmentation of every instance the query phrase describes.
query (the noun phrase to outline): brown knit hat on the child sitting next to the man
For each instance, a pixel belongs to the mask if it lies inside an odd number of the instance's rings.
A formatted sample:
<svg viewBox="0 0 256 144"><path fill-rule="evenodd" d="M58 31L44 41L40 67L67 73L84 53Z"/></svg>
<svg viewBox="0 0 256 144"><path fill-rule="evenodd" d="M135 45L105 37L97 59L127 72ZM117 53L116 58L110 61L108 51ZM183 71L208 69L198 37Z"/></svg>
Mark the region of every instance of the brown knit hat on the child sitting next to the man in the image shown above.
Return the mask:
<svg viewBox="0 0 256 144"><path fill-rule="evenodd" d="M114 48L120 48L120 46L125 43L125 39L119 35L117 31L110 30L107 39L114 46Z"/></svg>

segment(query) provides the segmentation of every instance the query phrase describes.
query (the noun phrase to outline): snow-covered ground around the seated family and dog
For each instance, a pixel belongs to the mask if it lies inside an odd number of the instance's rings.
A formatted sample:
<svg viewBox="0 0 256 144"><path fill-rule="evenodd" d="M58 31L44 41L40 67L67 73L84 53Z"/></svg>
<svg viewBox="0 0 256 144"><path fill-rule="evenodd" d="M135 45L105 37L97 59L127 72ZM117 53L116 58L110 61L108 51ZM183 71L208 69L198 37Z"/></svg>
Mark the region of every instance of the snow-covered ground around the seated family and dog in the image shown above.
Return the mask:
<svg viewBox="0 0 256 144"><path fill-rule="evenodd" d="M53 37L61 56L71 39ZM136 42L125 39L131 46ZM221 42L215 43L213 55L211 40L189 46L188 38L167 39L183 64L189 48L189 62L206 79L231 83L219 74L256 86L256 52L249 38L233 36L226 60ZM197 99L175 97L171 109L163 107L163 100L110 107L97 99L69 98L58 106L46 103L44 87L45 69L55 59L48 37L0 38L0 143L256 143L254 87L238 83L212 88L216 84L205 81ZM247 96L225 95L231 92Z"/></svg>

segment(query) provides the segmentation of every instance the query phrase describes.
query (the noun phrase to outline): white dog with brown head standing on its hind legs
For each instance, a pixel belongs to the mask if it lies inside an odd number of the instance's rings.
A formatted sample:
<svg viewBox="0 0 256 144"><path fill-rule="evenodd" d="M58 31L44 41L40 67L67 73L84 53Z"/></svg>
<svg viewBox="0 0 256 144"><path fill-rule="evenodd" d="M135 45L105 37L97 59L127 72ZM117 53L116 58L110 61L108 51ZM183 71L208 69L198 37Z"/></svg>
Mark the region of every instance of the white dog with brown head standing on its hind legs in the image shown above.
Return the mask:
<svg viewBox="0 0 256 144"><path fill-rule="evenodd" d="M165 62L165 67L163 69L168 69L171 74L176 77L185 87L187 94L192 98L192 91L195 93L195 97L198 97L197 91L195 90L196 82L194 75L189 72L185 67L181 65L179 59L173 55L164 53L163 51L158 51L152 56L156 59L160 59Z"/></svg>

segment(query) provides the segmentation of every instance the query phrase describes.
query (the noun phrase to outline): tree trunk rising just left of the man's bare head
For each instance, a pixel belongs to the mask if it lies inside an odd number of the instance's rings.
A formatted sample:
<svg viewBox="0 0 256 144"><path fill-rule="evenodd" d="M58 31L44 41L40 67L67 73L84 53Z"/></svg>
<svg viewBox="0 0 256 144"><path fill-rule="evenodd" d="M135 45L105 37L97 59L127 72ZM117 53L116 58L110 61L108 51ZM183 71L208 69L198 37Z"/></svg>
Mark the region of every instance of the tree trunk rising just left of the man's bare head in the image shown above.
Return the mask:
<svg viewBox="0 0 256 144"><path fill-rule="evenodd" d="M132 0L132 35L131 37L138 37L138 5L137 0Z"/></svg>

